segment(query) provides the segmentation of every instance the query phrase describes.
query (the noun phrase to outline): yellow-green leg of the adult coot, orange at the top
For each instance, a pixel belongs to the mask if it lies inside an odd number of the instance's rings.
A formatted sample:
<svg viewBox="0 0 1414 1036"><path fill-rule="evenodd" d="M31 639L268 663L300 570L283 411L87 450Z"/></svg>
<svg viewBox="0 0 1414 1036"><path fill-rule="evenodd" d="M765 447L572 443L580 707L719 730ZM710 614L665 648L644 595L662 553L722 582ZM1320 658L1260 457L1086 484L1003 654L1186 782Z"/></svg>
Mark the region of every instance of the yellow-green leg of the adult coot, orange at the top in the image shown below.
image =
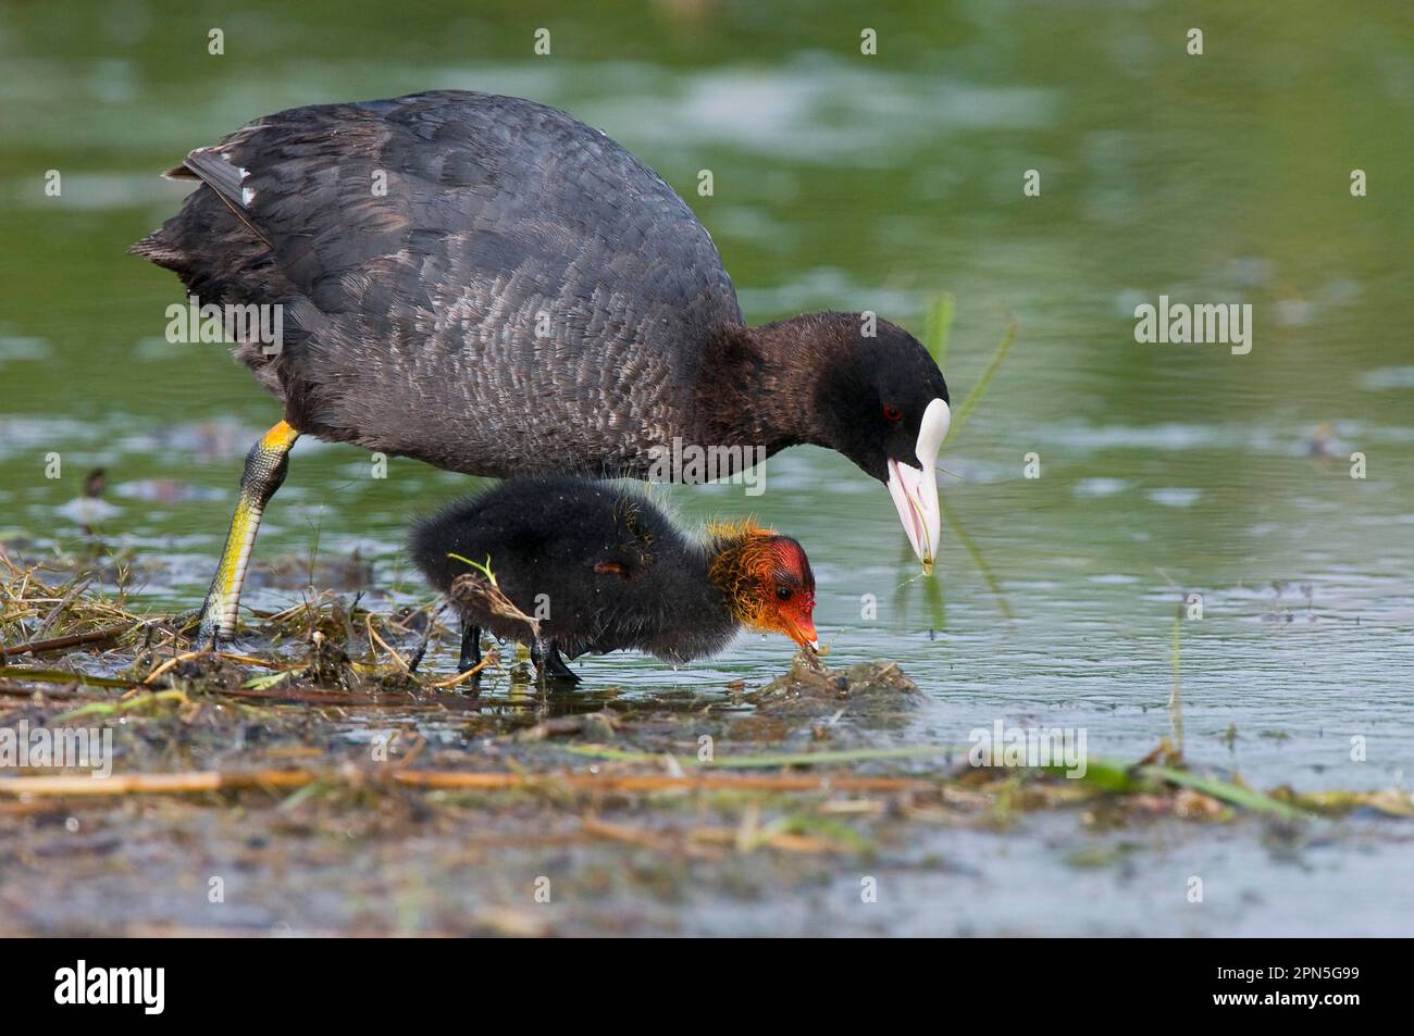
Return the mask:
<svg viewBox="0 0 1414 1036"><path fill-rule="evenodd" d="M260 529L264 506L274 490L284 482L290 468L290 448L300 432L284 421L259 438L246 454L246 469L240 476L240 499L230 519L226 547L221 553L216 578L206 591L206 602L201 608L201 625L197 628L197 649L214 649L221 639L236 635L236 613L240 609L240 587L246 581L246 565L250 563L250 548Z"/></svg>

